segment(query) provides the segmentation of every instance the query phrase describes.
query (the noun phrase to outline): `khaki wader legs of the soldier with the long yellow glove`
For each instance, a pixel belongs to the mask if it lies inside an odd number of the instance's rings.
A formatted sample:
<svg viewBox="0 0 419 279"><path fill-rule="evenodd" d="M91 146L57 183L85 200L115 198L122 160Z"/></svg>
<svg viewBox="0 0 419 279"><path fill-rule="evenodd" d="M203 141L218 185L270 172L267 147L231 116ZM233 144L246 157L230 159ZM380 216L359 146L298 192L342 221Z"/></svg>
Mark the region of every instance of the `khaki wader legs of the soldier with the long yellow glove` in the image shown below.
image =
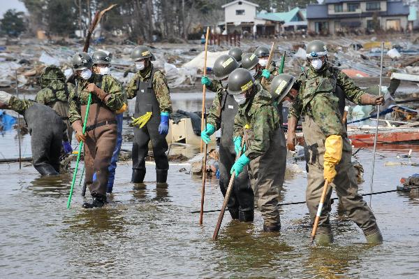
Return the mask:
<svg viewBox="0 0 419 279"><path fill-rule="evenodd" d="M314 120L305 116L302 122L302 131L304 141L309 150L308 156L308 185L306 190L307 207L309 208L311 224L314 224L316 218L318 203L325 180L323 178L323 156L325 154L325 136L318 124ZM330 184L328 197L323 205L320 222L318 223L318 234L328 233L330 231L330 196L332 189L335 189L341 206L346 210L349 219L355 222L362 231L376 229L376 218L367 203L358 194L358 183L355 176L355 168L351 162L352 147L346 136L343 137L344 147L342 158L336 166L337 176Z"/></svg>

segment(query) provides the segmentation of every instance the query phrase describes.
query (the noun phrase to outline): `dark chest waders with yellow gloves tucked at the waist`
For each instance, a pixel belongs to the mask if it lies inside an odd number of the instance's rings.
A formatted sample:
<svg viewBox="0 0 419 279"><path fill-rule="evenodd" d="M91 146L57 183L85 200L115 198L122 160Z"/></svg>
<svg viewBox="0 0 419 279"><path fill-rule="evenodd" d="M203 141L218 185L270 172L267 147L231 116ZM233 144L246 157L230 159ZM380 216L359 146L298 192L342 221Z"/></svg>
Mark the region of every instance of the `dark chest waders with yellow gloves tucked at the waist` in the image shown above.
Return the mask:
<svg viewBox="0 0 419 279"><path fill-rule="evenodd" d="M137 99L135 101L134 117L140 117L146 113L152 113L152 117L142 127L134 127L133 142L133 174L132 183L143 183L145 177L145 158L148 155L148 145L152 142L154 162L156 162L156 182L166 183L169 169L169 160L166 155L168 142L166 136L159 134L160 106L157 101L156 93L153 89L153 77L156 70L152 68L152 73L147 80L137 80Z"/></svg>

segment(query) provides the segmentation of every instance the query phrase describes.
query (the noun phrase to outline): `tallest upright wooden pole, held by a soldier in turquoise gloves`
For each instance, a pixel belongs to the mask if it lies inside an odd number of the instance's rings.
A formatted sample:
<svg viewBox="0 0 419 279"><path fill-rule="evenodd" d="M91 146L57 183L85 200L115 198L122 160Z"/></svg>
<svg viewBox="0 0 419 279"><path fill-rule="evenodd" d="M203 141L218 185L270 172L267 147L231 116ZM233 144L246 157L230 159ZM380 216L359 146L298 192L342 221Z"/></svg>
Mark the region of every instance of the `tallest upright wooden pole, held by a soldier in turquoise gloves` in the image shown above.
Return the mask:
<svg viewBox="0 0 419 279"><path fill-rule="evenodd" d="M207 27L207 34L205 35L205 52L204 52L204 76L207 76L207 49L208 49L208 36L210 36L210 27ZM205 92L207 87L203 85L203 107L201 113L201 131L205 129ZM203 162L203 186L201 187L201 204L200 204L200 215L199 224L203 224L204 217L204 200L205 200L205 180L207 179L207 144L205 144L203 150L204 141L201 140L200 151L204 151L204 162Z"/></svg>

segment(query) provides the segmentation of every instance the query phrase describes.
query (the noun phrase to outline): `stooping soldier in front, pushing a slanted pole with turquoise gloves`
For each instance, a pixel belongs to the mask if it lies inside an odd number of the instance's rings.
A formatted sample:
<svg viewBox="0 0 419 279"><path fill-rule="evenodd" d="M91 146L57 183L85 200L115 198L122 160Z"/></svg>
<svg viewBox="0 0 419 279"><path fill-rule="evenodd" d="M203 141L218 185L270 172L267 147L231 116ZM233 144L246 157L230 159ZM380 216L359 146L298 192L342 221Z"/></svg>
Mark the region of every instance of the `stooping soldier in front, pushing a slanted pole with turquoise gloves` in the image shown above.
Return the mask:
<svg viewBox="0 0 419 279"><path fill-rule="evenodd" d="M228 93L239 103L234 135L244 136L244 154L230 171L240 175L249 165L251 187L263 215L264 231L279 231L278 197L284 183L286 152L284 131L270 94L246 69L235 69L228 77ZM284 145L284 146L281 146Z"/></svg>

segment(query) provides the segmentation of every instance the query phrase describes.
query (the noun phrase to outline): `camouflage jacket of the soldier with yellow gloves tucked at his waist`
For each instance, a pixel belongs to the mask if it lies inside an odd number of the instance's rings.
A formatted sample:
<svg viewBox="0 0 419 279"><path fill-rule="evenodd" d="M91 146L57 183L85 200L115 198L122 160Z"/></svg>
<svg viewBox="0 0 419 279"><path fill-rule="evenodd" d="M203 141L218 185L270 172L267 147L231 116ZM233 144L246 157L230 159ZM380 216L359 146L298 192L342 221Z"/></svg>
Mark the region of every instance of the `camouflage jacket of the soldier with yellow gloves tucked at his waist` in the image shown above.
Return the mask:
<svg viewBox="0 0 419 279"><path fill-rule="evenodd" d="M126 95L128 99L133 99L137 96L137 80L145 81L152 75L153 66L135 73L134 77L126 86ZM166 76L161 71L156 71L152 79L152 85L154 93L156 94L157 101L159 101L160 111L171 113L172 112L172 100L170 99L170 91Z"/></svg>

